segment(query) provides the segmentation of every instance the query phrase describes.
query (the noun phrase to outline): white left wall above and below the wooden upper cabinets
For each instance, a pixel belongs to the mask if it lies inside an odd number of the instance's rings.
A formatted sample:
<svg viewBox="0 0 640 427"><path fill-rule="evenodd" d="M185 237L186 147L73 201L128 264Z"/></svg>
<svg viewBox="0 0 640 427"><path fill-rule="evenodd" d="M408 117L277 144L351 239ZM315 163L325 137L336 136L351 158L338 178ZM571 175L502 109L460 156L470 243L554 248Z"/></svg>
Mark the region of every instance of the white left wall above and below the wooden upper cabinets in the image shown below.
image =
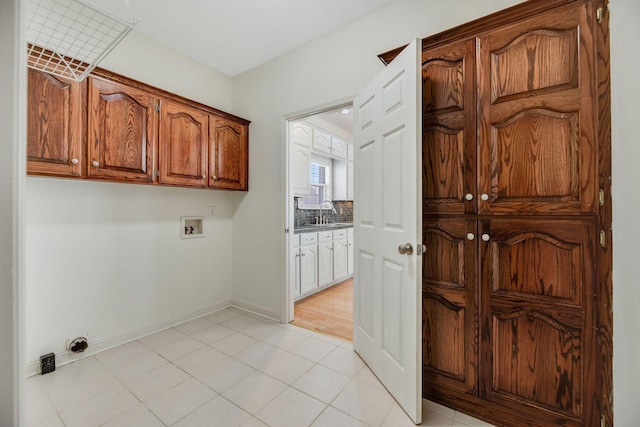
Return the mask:
<svg viewBox="0 0 640 427"><path fill-rule="evenodd" d="M231 107L230 78L137 33L101 66ZM25 205L29 372L48 352L64 362L67 338L100 350L231 301L228 191L29 177ZM182 240L180 217L196 215L206 237Z"/></svg>

